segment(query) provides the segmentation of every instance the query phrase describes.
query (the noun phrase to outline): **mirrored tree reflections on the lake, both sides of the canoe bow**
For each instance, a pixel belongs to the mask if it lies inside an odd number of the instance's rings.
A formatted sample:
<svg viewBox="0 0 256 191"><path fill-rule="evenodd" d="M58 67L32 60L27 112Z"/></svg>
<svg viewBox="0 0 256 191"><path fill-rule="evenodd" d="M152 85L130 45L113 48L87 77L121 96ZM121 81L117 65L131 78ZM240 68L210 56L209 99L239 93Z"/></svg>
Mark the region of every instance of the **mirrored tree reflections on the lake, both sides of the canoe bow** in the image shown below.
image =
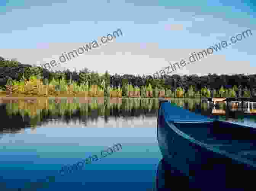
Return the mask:
<svg viewBox="0 0 256 191"><path fill-rule="evenodd" d="M218 115L224 120L243 121L244 115L256 113L244 104L217 103L211 105L200 99L172 98L171 103L202 115ZM62 121L66 124L79 121L87 125L88 122L98 122L104 118L106 123L110 118L155 117L158 110L158 99L154 98L3 98L0 105L2 124L8 124L0 132L18 133L26 127L47 124L50 121ZM226 118L221 117L226 116ZM255 115L254 115L255 116ZM254 116L246 117L253 123Z"/></svg>

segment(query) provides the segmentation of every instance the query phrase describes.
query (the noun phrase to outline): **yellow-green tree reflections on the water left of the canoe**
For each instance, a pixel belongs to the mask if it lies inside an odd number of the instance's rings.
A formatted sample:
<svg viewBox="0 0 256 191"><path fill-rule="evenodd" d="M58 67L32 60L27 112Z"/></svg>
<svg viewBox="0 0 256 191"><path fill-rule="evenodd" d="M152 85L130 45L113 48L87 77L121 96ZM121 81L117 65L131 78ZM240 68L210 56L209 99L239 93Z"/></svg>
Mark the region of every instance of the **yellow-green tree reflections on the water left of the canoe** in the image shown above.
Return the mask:
<svg viewBox="0 0 256 191"><path fill-rule="evenodd" d="M0 106L2 124L0 133L18 133L27 127L42 126L51 121L98 122L104 118L155 117L158 99L122 98L27 98L4 99Z"/></svg>

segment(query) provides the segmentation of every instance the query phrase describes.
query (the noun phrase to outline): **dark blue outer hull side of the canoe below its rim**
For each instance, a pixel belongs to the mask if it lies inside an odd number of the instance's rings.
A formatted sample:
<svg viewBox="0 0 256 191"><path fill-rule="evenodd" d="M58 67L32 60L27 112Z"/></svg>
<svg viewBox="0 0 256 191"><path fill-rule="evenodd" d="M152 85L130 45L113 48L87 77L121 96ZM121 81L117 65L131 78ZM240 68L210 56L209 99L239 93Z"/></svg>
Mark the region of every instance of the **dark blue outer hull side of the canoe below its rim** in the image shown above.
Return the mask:
<svg viewBox="0 0 256 191"><path fill-rule="evenodd" d="M201 125L202 131L209 131L213 126L220 125L217 123L222 122L190 123L190 126ZM182 186L206 190L244 190L246 186L252 185L255 167L243 163L241 159L235 159L232 157L234 155L227 156L218 149L200 145L197 140L194 141L187 134L183 134L180 130L182 125L184 124L180 123L177 128L175 123L166 122L165 116L161 114L160 103L157 122L158 145L165 165L178 170L179 176L183 177ZM173 182L176 183L178 182Z"/></svg>

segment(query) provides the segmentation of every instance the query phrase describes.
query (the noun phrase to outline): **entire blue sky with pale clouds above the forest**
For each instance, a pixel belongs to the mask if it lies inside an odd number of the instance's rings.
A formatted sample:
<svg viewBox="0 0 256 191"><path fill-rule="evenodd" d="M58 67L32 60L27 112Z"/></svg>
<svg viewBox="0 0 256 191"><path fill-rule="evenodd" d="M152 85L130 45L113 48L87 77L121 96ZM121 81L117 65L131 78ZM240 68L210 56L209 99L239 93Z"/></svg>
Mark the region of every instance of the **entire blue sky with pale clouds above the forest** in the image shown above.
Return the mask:
<svg viewBox="0 0 256 191"><path fill-rule="evenodd" d="M152 75L250 29L252 36L172 74L256 74L256 2L0 0L0 56L37 65L111 34L123 36L52 69Z"/></svg>

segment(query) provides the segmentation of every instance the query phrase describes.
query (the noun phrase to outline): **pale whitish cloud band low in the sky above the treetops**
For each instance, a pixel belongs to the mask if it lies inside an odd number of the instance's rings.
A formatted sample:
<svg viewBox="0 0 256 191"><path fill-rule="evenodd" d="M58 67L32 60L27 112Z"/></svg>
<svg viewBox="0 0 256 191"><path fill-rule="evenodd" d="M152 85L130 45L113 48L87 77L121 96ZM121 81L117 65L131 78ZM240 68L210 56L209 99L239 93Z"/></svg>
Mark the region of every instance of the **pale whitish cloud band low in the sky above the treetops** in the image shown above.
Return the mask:
<svg viewBox="0 0 256 191"><path fill-rule="evenodd" d="M124 30L122 31L125 33ZM253 36L250 38L253 38ZM246 41L246 39L244 41ZM217 42L218 41L215 43ZM242 43L242 41L237 44L240 43ZM54 67L54 69L62 70L69 68L73 70L74 67L76 67L79 71L86 66L91 70L98 70L99 73L104 73L106 70L109 70L111 74L152 75L156 71L160 71L168 66L168 61L175 63L183 58L189 60L189 56L192 52L199 52L203 49L159 49L158 43L142 44L111 42L106 46L95 48L93 51L86 52L79 57L61 63ZM9 58L16 55L18 60L25 64L37 63L40 65L48 63L49 60L54 60L54 58L58 58L64 51L70 51L83 45L83 43L49 43L49 48L45 49L46 52L43 51L44 49L0 49L0 52L3 55L7 55ZM207 47L204 47L204 49L205 48ZM241 59L236 60L234 56L233 58L229 58L226 52L228 52L229 55L229 47L219 51L219 53L214 52L214 54L202 58L193 64L186 65L172 74L256 73L254 63L250 62L250 60L255 58L255 55L249 57L246 55L246 52L244 54L240 53ZM52 56L49 57L49 55Z"/></svg>

